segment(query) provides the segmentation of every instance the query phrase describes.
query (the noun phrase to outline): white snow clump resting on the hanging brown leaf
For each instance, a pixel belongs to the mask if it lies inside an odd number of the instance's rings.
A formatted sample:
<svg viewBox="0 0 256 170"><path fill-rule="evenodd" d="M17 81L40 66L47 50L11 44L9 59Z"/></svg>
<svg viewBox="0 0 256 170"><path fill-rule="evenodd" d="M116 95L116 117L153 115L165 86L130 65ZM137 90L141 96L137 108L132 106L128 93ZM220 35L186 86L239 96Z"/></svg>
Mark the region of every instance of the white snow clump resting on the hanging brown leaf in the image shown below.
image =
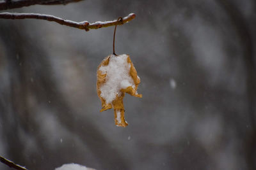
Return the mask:
<svg viewBox="0 0 256 170"><path fill-rule="evenodd" d="M107 74L106 83L100 87L100 96L106 103L112 103L116 94L120 96L120 90L131 86L135 88L134 81L130 75L131 63L127 62L128 55L111 55L108 66L99 68L102 74Z"/></svg>

